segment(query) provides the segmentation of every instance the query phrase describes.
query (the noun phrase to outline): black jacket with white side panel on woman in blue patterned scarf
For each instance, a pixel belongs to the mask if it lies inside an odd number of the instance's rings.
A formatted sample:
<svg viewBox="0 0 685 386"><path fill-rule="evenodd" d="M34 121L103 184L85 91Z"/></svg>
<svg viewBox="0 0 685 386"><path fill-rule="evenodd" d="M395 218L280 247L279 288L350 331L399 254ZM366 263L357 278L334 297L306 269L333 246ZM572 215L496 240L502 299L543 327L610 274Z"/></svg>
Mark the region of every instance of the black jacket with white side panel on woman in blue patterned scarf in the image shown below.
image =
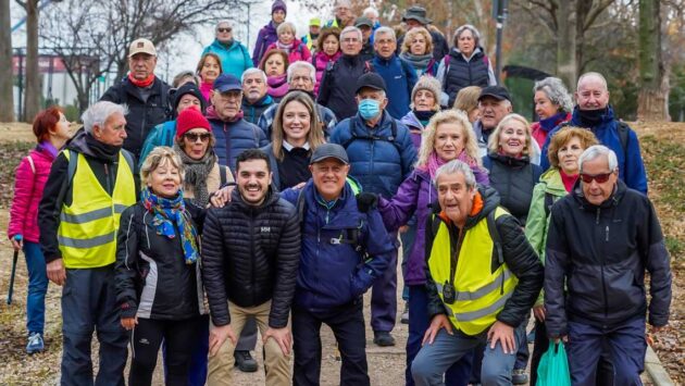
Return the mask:
<svg viewBox="0 0 685 386"><path fill-rule="evenodd" d="M204 210L185 203L186 224L199 235ZM207 313L199 260L186 264L178 227L169 238L157 233L152 220L141 202L122 213L114 265L122 316L179 321Z"/></svg>

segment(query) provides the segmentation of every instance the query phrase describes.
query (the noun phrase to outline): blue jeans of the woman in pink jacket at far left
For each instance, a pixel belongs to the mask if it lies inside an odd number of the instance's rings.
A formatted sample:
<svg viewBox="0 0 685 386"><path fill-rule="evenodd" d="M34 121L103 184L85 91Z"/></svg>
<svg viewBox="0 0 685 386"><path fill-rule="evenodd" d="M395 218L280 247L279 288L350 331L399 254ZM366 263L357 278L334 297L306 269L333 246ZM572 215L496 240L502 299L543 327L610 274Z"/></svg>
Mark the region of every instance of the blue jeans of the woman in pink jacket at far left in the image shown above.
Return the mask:
<svg viewBox="0 0 685 386"><path fill-rule="evenodd" d="M26 296L26 329L29 333L40 333L46 324L46 292L48 291L48 275L46 274L46 258L40 251L38 242L24 242L24 256L28 270L28 294Z"/></svg>

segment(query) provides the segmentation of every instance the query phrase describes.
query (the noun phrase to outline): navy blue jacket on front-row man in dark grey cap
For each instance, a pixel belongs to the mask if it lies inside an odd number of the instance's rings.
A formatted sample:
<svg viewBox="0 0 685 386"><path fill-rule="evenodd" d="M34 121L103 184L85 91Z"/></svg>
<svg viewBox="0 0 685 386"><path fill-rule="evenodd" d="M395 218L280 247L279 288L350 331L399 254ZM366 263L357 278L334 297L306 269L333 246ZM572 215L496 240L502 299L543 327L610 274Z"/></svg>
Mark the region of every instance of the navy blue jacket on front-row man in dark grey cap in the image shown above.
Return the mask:
<svg viewBox="0 0 685 386"><path fill-rule="evenodd" d="M359 211L349 183L333 203L323 201L311 179L281 197L297 206L299 195L304 195L304 208L294 306L325 313L359 299L387 269L395 245L377 209Z"/></svg>

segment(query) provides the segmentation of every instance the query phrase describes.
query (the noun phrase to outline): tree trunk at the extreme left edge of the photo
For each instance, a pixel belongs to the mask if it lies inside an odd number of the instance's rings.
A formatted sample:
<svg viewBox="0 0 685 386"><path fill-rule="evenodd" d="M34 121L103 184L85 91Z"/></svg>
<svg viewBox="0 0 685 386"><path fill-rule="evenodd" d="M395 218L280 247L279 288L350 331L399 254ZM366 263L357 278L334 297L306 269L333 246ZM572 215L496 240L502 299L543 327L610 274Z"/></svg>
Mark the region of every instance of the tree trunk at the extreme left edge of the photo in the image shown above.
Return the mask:
<svg viewBox="0 0 685 386"><path fill-rule="evenodd" d="M11 29L10 0L0 0L0 122L14 121Z"/></svg>

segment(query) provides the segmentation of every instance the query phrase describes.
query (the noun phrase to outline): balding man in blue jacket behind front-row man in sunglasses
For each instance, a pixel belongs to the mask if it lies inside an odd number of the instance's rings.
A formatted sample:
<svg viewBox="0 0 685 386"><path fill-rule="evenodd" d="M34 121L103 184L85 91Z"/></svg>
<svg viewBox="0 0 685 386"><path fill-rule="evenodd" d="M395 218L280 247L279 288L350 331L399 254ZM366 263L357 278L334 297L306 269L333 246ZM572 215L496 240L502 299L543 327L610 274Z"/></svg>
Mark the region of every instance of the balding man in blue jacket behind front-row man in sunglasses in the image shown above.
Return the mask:
<svg viewBox="0 0 685 386"><path fill-rule="evenodd" d="M647 195L647 172L639 152L637 134L613 115L613 109L609 104L609 89L607 80L599 73L585 73L581 75L575 91L577 105L573 109L573 116L566 125L585 127L593 132L599 142L616 153L619 160L619 178L627 185ZM547 148L551 137L562 126L552 129L547 136L540 167L547 170Z"/></svg>

